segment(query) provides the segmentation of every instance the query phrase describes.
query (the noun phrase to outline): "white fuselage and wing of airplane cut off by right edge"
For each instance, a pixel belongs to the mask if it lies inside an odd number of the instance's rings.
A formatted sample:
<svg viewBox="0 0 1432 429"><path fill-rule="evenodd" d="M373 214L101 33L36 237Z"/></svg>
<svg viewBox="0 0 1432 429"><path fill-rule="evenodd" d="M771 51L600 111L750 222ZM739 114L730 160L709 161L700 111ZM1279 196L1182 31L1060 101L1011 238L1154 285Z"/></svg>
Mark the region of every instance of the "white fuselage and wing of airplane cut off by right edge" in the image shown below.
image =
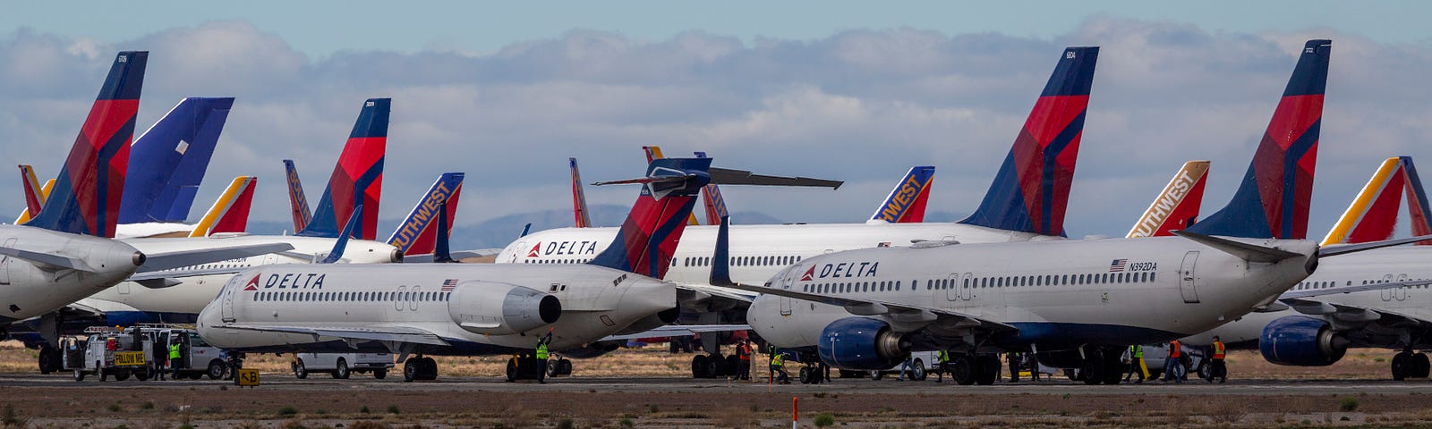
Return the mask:
<svg viewBox="0 0 1432 429"><path fill-rule="evenodd" d="M1432 265L1428 262L1432 262L1432 246L1399 246L1325 257L1319 260L1317 272L1293 286L1292 290L1325 290L1432 279ZM1306 300L1432 320L1432 286L1428 285L1332 293L1307 297ZM1300 313L1295 309L1250 313L1232 323L1190 336L1184 342L1189 345L1209 345L1213 343L1213 336L1217 335L1224 343L1256 347L1263 327L1273 320L1287 316L1320 317L1317 315ZM1355 339L1355 346L1400 347L1398 342L1403 332L1399 332L1396 327L1379 326L1375 320L1346 320L1332 315L1322 316L1322 319L1330 322L1333 329L1340 332L1363 330L1356 336L1350 336L1350 339Z"/></svg>

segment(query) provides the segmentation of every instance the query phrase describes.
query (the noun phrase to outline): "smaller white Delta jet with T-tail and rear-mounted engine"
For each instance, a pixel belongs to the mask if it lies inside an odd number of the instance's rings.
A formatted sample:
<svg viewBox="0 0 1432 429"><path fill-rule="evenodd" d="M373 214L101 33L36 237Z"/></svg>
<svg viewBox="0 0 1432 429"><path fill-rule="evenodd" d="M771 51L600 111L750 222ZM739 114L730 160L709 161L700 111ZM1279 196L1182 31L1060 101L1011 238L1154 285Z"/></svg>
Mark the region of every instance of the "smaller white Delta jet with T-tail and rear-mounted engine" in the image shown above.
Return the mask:
<svg viewBox="0 0 1432 429"><path fill-rule="evenodd" d="M199 335L239 352L401 352L405 380L437 378L424 355L520 353L544 333L553 350L583 347L676 305L676 289L659 279L702 186L773 180L839 186L712 169L710 159L654 160L644 177L607 182L643 187L620 245L590 263L256 267L203 309Z"/></svg>

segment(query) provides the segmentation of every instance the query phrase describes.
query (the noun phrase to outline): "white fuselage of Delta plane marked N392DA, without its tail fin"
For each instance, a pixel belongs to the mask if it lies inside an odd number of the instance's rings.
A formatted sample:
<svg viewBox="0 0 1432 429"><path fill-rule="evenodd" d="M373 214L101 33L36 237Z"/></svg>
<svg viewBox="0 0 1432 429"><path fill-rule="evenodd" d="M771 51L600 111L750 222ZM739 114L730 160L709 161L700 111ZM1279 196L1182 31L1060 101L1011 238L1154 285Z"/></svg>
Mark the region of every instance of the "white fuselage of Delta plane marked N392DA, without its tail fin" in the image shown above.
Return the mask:
<svg viewBox="0 0 1432 429"><path fill-rule="evenodd" d="M1242 239L1240 239L1242 240ZM1242 240L1313 255L1307 240ZM806 259L768 287L947 309L1015 326L1004 349L1154 343L1209 330L1307 276L1307 257L1249 263L1181 237L865 249ZM885 285L884 287L881 285ZM843 307L760 295L748 322L782 347L815 346ZM925 329L925 325L892 325ZM921 347L959 345L958 326L929 325ZM948 332L941 337L939 332Z"/></svg>

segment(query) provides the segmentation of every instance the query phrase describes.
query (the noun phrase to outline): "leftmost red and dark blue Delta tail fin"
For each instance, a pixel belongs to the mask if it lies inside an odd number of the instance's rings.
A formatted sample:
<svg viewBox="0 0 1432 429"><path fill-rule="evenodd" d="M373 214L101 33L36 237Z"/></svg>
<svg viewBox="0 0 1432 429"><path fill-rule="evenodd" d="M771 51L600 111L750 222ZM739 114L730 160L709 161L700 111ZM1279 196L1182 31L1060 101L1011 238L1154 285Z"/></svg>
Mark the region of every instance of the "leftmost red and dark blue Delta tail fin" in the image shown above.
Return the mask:
<svg viewBox="0 0 1432 429"><path fill-rule="evenodd" d="M122 51L70 149L54 190L27 222L49 230L113 237L135 137L147 51Z"/></svg>

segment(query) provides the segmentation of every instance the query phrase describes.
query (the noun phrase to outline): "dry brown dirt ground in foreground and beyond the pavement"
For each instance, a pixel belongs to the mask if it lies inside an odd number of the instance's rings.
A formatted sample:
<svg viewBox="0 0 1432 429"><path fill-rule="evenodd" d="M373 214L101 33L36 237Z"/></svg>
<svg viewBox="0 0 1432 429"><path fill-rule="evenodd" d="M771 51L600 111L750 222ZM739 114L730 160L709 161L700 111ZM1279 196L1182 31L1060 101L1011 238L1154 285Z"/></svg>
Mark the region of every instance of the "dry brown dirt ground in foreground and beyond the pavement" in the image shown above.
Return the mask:
<svg viewBox="0 0 1432 429"><path fill-rule="evenodd" d="M692 355L664 347L619 350L576 360L574 378L686 378ZM1352 350L1329 368L1282 368L1254 352L1229 358L1236 378L1379 379L1385 350ZM445 376L497 378L503 358L437 358ZM0 343L0 372L33 372L32 350ZM291 378L286 358L246 362L266 376ZM789 428L792 398L800 428L1432 428L1432 405L1415 389L1406 395L1356 392L1266 395L1187 395L1171 392L941 393L862 392L829 385L802 393L752 393L717 388L679 392L609 389L490 392L384 389L374 385L315 385L292 389L239 389L190 385L76 386L56 376L53 386L0 382L3 428ZM884 382L882 382L884 383ZM1425 383L1425 382L1423 382ZM397 383L401 386L402 383ZM511 385L507 385L511 386ZM673 386L677 386L673 383ZM599 392L600 390L600 392ZM673 388L673 390L676 390ZM949 393L942 393L949 392ZM1432 393L1432 390L1429 390Z"/></svg>

